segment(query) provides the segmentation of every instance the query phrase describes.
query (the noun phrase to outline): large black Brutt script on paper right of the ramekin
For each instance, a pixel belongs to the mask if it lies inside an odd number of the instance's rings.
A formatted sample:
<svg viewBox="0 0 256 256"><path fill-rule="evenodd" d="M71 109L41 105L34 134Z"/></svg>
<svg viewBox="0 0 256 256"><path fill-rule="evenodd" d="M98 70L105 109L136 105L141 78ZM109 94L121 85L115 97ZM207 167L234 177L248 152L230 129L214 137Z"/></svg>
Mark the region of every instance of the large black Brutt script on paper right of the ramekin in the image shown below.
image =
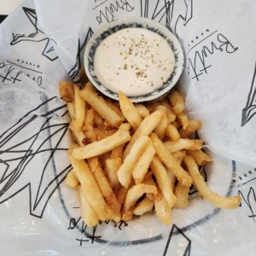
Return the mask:
<svg viewBox="0 0 256 256"><path fill-rule="evenodd" d="M212 67L212 65L209 63L210 60L208 59L210 55L218 52L232 54L238 49L238 47L231 44L228 38L217 32L218 31L214 31L210 35L206 35L205 38L189 49L187 73L191 75L192 79L199 81L199 77L202 74L208 73L207 69ZM216 38L212 39L210 43L201 46L202 42L206 42L207 39L212 38L212 36L216 34ZM192 49L194 49L193 52Z"/></svg>

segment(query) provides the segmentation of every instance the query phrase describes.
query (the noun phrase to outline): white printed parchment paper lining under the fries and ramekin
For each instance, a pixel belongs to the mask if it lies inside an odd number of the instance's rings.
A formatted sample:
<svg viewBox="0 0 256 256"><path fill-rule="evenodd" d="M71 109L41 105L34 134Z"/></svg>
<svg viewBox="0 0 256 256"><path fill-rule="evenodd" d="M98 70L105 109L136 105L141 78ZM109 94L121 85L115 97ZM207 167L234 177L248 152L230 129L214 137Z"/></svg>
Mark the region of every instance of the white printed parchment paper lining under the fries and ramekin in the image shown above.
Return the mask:
<svg viewBox="0 0 256 256"><path fill-rule="evenodd" d="M4 255L241 255L255 252L255 56L253 0L26 0L0 26L0 246ZM179 84L214 164L204 173L241 207L219 211L190 191L166 227L154 215L89 229L70 171L58 82L79 83L84 46L123 17L157 20L186 57Z"/></svg>

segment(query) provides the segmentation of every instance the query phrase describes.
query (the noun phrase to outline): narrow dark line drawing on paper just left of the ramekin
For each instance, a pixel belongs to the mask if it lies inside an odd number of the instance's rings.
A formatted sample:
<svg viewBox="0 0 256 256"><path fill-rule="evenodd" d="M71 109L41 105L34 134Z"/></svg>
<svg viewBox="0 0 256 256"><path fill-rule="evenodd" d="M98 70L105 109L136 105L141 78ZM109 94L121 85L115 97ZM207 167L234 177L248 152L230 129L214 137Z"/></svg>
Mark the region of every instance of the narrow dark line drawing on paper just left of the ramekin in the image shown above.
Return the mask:
<svg viewBox="0 0 256 256"><path fill-rule="evenodd" d="M85 35L83 43L81 43L81 39L79 38L79 45L78 45L78 53L77 53L76 63L74 64L74 66L68 72L69 77L71 79L73 79L73 81L75 83L79 83L79 81L80 81L79 73L80 73L80 69L82 67L82 61L83 61L82 54L84 53L84 46L88 42L88 40L91 38L92 35L93 35L93 31L89 27L89 29L88 29L88 31Z"/></svg>

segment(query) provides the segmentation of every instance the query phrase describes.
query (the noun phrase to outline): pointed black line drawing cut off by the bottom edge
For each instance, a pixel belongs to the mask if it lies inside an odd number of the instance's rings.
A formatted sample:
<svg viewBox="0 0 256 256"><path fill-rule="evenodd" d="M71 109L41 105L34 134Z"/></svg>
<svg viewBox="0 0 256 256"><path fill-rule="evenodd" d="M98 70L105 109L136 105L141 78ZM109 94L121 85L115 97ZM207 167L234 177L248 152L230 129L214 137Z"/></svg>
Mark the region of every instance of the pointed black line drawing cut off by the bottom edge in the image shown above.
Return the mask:
<svg viewBox="0 0 256 256"><path fill-rule="evenodd" d="M177 235L177 236L173 236L173 235ZM172 247L172 240L174 239L180 239L180 238L183 238L183 242L182 242L182 246L183 248L180 248L180 250L184 249L183 251L183 256L189 256L190 255L190 252L191 252L191 240L189 239L188 236L186 236L184 233L183 233L183 230L180 230L176 224L172 224L172 230L169 234L169 237L168 237L168 240L167 240L167 243L166 243L166 248L165 248L165 251L163 253L163 256L166 256L167 253L168 253L168 249L169 247ZM174 242L174 245L175 247L178 246L178 243L177 242ZM181 254L180 254L181 255Z"/></svg>

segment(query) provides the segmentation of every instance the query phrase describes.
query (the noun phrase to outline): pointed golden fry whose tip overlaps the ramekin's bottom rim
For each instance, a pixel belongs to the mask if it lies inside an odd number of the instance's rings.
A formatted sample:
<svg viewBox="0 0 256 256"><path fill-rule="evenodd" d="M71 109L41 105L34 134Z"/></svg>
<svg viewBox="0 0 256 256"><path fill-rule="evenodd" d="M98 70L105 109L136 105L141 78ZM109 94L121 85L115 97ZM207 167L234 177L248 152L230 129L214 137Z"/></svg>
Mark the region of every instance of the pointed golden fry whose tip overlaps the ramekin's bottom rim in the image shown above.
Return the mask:
<svg viewBox="0 0 256 256"><path fill-rule="evenodd" d="M132 129L136 131L143 119L137 112L137 108L122 91L119 91L119 104L125 119L131 124Z"/></svg>

